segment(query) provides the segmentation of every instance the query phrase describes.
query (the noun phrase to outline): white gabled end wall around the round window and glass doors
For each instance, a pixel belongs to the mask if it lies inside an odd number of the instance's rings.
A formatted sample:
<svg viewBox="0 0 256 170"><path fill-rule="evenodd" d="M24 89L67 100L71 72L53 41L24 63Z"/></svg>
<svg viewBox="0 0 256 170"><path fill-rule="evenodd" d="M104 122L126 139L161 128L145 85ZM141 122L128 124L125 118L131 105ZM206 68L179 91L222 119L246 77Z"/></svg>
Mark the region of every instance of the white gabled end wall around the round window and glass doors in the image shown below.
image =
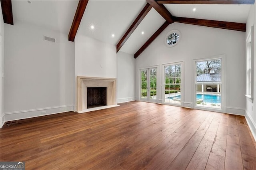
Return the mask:
<svg viewBox="0 0 256 170"><path fill-rule="evenodd" d="M178 45L167 47L166 34L179 30ZM136 59L136 94L139 94L139 69L159 65L160 81L162 64L184 61L184 102L192 103L194 91L193 59L226 55L226 112L244 115L245 109L245 33L189 24L170 24ZM160 87L158 86L158 90ZM159 94L159 93L158 93ZM162 99L162 96L159 96Z"/></svg>

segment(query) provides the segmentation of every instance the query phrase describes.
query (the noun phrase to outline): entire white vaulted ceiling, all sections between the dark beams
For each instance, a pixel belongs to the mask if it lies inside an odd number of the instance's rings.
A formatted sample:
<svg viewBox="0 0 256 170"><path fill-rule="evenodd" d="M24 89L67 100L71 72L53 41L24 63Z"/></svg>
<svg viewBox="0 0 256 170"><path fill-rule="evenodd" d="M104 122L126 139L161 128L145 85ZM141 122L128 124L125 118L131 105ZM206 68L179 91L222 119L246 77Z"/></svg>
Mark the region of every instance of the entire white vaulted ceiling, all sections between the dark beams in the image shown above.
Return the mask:
<svg viewBox="0 0 256 170"><path fill-rule="evenodd" d="M16 20L68 34L78 0L12 0ZM89 0L77 34L116 45L146 5L145 0ZM246 23L251 5L164 4L173 16ZM193 12L193 8L196 11ZM165 20L152 8L120 51L134 54ZM91 25L94 30L90 29ZM144 32L144 35L141 32ZM114 34L114 38L112 37Z"/></svg>

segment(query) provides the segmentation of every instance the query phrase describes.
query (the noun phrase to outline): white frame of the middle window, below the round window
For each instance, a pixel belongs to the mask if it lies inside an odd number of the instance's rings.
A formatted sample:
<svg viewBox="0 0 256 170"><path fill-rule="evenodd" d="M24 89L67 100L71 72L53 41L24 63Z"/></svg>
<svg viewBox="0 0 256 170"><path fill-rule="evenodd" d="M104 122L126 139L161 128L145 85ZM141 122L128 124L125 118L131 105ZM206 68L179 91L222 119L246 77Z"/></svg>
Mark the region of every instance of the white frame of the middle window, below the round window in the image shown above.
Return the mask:
<svg viewBox="0 0 256 170"><path fill-rule="evenodd" d="M167 103L165 102L165 66L169 66L169 65L181 65L181 69L180 69L180 104L176 104L176 103ZM184 106L184 61L179 61L179 62L174 62L174 63L166 63L166 64L162 64L162 103L164 105L172 105L172 106L180 106L183 107Z"/></svg>

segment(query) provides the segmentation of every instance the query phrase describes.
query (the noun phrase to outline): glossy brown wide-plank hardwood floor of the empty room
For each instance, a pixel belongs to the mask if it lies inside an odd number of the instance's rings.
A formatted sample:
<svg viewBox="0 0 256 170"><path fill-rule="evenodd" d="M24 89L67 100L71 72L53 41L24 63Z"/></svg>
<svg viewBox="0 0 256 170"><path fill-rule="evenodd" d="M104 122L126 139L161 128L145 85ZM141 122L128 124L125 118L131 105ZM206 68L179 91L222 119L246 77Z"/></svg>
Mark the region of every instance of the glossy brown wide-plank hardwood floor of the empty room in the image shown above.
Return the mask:
<svg viewBox="0 0 256 170"><path fill-rule="evenodd" d="M255 146L242 116L144 102L0 129L0 160L28 170L253 170Z"/></svg>

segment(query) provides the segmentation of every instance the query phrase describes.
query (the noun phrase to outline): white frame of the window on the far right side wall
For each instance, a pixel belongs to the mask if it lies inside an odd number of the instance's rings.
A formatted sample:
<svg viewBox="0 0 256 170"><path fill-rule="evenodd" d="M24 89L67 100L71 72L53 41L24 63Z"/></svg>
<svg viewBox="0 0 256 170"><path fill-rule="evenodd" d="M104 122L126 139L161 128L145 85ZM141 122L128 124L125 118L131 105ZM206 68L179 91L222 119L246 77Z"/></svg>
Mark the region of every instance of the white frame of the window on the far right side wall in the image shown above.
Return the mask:
<svg viewBox="0 0 256 170"><path fill-rule="evenodd" d="M254 26L246 38L246 97L253 102L254 81Z"/></svg>

